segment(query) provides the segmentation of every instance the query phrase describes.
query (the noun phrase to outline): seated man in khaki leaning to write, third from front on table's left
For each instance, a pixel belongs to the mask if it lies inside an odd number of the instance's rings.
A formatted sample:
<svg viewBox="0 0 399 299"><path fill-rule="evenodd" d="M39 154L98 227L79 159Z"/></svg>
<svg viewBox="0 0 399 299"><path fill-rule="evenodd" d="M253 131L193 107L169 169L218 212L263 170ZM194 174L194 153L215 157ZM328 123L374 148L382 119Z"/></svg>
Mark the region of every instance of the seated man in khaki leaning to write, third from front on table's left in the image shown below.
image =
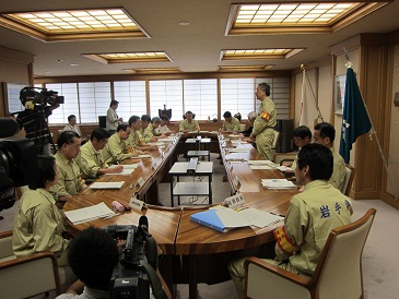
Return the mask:
<svg viewBox="0 0 399 299"><path fill-rule="evenodd" d="M109 168L109 165L102 157L101 151L108 143L108 131L96 128L93 130L90 141L81 147L81 154L77 158L77 163L84 179L93 180L104 174L119 174L124 170L121 165Z"/></svg>

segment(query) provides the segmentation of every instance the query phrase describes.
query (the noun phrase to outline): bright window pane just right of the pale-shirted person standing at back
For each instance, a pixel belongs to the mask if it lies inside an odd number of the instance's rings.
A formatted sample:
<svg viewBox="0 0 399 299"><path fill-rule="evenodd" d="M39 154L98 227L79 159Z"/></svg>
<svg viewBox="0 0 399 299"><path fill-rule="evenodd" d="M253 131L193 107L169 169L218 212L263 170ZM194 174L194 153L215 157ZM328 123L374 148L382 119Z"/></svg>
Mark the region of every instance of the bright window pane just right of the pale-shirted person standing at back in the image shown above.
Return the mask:
<svg viewBox="0 0 399 299"><path fill-rule="evenodd" d="M145 81L115 82L114 93L115 99L119 101L118 116L125 122L128 122L131 116L146 115Z"/></svg>

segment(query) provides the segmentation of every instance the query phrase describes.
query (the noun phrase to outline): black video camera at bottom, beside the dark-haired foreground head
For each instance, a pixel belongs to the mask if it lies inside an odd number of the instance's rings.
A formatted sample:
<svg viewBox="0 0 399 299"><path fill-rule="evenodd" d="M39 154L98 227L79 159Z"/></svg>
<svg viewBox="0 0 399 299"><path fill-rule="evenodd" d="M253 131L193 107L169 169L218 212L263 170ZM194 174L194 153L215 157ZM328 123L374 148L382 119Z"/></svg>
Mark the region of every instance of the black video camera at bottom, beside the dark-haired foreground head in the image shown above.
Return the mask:
<svg viewBox="0 0 399 299"><path fill-rule="evenodd" d="M139 226L110 225L104 229L115 239L126 240L110 278L110 298L150 298L150 283L156 299L166 298L155 273L157 247L148 231L146 217L140 217Z"/></svg>

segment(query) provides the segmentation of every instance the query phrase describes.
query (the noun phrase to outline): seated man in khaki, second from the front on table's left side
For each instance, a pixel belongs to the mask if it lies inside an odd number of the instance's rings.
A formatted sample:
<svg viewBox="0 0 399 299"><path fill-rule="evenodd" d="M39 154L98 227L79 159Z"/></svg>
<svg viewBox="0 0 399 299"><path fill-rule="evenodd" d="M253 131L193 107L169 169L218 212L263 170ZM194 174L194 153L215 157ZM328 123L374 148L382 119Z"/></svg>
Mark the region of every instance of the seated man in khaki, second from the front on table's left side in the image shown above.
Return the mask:
<svg viewBox="0 0 399 299"><path fill-rule="evenodd" d="M74 158L78 157L81 147L81 140L78 133L64 131L57 140L58 152L55 155L59 179L58 183L50 188L51 195L56 199L57 205L62 207L71 195L78 194L86 189L81 171Z"/></svg>

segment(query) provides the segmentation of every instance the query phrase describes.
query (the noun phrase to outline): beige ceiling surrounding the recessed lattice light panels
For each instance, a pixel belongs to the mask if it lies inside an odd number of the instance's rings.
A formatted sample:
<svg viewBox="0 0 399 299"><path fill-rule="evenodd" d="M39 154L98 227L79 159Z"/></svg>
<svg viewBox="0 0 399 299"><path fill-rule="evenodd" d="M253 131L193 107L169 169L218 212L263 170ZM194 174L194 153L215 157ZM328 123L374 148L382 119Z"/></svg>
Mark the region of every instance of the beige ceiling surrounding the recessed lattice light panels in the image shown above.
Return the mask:
<svg viewBox="0 0 399 299"><path fill-rule="evenodd" d="M1 1L0 12L58 9L124 8L151 38L44 43L0 27L0 46L35 56L36 76L126 74L124 69L180 68L184 72L213 72L219 65L275 64L292 70L324 58L329 47L359 33L388 33L399 28L399 0L333 34L225 36L231 0L69 0ZM266 2L266 1L259 1ZM283 2L283 1L281 1ZM327 2L327 1L326 1ZM189 22L188 26L178 23ZM221 50L305 48L286 60L220 61ZM173 62L103 64L82 53L165 51ZM57 59L62 62L56 62ZM71 67L78 63L79 67Z"/></svg>

